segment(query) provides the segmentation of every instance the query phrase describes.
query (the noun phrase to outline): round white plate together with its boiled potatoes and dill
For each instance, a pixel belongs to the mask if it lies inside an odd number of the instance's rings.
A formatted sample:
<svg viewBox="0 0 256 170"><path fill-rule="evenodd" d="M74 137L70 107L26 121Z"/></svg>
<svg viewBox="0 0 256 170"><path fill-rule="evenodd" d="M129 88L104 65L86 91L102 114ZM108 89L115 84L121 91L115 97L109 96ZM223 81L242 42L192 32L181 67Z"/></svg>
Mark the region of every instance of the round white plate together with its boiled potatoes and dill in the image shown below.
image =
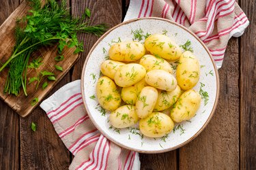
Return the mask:
<svg viewBox="0 0 256 170"><path fill-rule="evenodd" d="M208 124L218 71L191 31L163 18L113 27L91 48L81 91L89 118L109 140L142 153L175 150Z"/></svg>

